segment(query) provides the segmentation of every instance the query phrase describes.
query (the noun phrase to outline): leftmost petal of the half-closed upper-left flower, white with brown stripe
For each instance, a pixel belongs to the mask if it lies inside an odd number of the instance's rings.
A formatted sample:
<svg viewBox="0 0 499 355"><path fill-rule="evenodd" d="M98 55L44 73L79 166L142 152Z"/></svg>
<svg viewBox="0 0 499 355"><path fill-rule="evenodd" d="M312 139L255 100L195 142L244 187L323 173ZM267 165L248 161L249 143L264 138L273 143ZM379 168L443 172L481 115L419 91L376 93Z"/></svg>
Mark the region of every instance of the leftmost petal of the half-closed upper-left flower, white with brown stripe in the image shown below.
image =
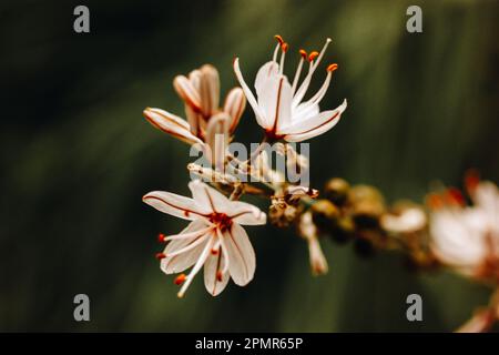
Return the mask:
<svg viewBox="0 0 499 355"><path fill-rule="evenodd" d="M191 133L191 126L185 120L160 109L145 109L143 113L149 123L160 131L166 132L189 144L203 144L197 136Z"/></svg>

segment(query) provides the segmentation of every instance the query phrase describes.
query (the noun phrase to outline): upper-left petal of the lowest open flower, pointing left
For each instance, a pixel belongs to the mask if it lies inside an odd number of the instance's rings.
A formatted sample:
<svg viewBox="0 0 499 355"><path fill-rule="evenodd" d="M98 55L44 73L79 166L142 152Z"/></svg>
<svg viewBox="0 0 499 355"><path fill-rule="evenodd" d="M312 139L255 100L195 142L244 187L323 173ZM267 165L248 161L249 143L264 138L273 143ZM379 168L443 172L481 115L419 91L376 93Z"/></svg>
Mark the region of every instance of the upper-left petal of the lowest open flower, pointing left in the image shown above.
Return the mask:
<svg viewBox="0 0 499 355"><path fill-rule="evenodd" d="M150 192L142 201L157 211L190 221L206 217L208 212L193 199L164 191Z"/></svg>

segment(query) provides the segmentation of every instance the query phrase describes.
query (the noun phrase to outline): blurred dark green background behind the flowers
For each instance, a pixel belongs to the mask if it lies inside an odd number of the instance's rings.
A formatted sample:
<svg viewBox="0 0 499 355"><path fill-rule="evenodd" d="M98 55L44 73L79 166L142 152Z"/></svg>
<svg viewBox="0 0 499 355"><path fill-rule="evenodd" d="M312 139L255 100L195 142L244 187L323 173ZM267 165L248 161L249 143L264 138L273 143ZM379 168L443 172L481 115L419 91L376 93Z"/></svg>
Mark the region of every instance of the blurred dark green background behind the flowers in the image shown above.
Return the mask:
<svg viewBox="0 0 499 355"><path fill-rule="evenodd" d="M73 32L77 4L90 8L91 33ZM422 8L422 33L406 31L410 4ZM177 300L153 255L156 234L185 223L141 196L187 193L189 148L142 110L182 114L172 79L206 62L223 92L236 84L235 55L253 82L275 33L291 53L332 37L326 62L339 70L322 106L349 106L310 141L313 185L343 176L421 201L432 181L458 185L470 166L498 182L498 13L487 0L3 0L0 331L452 331L487 288L328 241L329 274L312 277L305 243L272 226L248 230L257 270L247 287L213 298L200 274ZM237 134L259 138L249 109ZM91 322L73 320L79 293ZM410 293L422 296L424 322L406 320Z"/></svg>

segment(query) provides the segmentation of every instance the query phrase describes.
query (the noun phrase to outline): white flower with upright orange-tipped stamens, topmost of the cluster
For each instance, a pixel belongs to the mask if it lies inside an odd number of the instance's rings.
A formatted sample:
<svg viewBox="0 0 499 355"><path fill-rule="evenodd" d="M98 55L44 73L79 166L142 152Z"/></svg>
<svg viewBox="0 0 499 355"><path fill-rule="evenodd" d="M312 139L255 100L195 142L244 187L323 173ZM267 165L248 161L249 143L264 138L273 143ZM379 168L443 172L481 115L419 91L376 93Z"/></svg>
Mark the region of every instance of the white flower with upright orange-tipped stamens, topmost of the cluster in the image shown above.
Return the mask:
<svg viewBox="0 0 499 355"><path fill-rule="evenodd" d="M301 50L302 58L298 63L293 83L289 83L283 74L284 58L287 51L287 43L279 36L277 47L272 61L265 63L256 74L255 90L256 98L243 79L240 69L240 60L234 60L234 71L244 90L247 101L255 112L256 121L265 129L271 139L284 139L288 142L299 142L330 130L339 120L343 111L347 106L346 100L335 110L319 112L319 102L324 98L333 72L337 64L327 67L327 75L320 89L307 101L303 101L312 77L317 69L330 39L327 39L320 53L312 52L309 55ZM277 63L278 50L282 50L281 63ZM308 73L298 85L302 67L308 60Z"/></svg>

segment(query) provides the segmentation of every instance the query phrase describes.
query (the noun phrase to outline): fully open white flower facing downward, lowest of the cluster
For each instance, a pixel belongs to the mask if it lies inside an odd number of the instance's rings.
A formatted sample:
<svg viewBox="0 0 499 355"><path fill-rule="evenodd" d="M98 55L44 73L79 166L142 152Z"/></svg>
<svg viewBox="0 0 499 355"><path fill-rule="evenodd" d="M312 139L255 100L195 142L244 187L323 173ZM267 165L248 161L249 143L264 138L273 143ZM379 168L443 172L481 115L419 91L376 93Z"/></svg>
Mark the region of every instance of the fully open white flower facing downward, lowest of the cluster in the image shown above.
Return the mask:
<svg viewBox="0 0 499 355"><path fill-rule="evenodd" d="M169 242L161 258L166 274L181 273L192 266L187 276L181 274L182 297L194 276L204 265L204 284L216 296L228 278L244 286L255 273L255 252L244 229L240 225L266 223L266 215L256 206L231 201L201 181L189 184L193 199L153 191L143 201L156 210L192 221L180 234L164 237Z"/></svg>

